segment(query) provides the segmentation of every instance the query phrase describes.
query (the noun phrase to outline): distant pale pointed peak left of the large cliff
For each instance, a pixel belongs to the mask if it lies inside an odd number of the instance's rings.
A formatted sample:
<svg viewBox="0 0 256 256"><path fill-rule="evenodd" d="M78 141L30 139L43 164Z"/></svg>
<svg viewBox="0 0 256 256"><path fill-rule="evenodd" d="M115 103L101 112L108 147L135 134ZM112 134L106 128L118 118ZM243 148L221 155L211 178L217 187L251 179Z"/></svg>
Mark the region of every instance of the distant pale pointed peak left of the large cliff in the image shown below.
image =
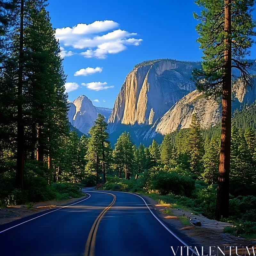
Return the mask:
<svg viewBox="0 0 256 256"><path fill-rule="evenodd" d="M105 116L105 120L108 120L112 112L111 108L93 106L92 101L85 95L81 95L73 102L70 102L69 107L68 121L73 127L84 134L89 132L99 113Z"/></svg>

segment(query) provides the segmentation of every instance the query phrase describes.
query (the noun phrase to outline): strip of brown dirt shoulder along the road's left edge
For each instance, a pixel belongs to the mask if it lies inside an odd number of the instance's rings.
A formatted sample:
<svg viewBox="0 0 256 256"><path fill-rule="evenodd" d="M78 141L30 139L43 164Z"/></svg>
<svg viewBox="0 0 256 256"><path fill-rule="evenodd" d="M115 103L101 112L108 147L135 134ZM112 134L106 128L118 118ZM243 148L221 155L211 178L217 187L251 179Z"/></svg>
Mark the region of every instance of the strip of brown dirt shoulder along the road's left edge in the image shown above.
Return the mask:
<svg viewBox="0 0 256 256"><path fill-rule="evenodd" d="M84 197L84 196L83 196ZM83 198L80 197L80 198ZM0 225L9 223L14 220L19 220L21 218L27 217L34 213L43 212L52 208L58 208L66 204L72 204L73 202L79 200L79 198L71 198L65 201L45 201L40 203L35 203L32 209L27 209L25 204L20 205L10 205L6 208L0 209Z"/></svg>

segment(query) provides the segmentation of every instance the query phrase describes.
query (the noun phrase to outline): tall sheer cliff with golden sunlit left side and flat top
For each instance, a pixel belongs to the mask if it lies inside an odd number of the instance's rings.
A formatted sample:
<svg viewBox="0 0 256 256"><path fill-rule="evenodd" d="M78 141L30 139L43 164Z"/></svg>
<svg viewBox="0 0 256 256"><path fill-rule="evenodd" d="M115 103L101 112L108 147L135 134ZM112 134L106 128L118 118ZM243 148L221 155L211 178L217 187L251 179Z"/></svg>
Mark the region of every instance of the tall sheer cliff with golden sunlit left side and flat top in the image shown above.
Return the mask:
<svg viewBox="0 0 256 256"><path fill-rule="evenodd" d="M195 89L189 80L200 63L157 60L134 68L125 79L108 119L109 133L123 125L152 125Z"/></svg>

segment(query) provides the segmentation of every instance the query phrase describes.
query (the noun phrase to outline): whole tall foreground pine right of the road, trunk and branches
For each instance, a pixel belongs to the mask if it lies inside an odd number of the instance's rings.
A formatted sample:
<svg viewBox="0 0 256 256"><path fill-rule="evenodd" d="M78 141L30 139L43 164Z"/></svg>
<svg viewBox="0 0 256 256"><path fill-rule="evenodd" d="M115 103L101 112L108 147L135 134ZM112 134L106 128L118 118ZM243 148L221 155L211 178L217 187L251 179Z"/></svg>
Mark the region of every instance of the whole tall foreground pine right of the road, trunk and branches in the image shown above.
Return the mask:
<svg viewBox="0 0 256 256"><path fill-rule="evenodd" d="M199 91L222 95L222 122L219 180L217 189L216 217L229 215L229 172L231 141L231 69L238 69L239 80L252 85L253 79L248 71L252 63L244 61L250 55L255 21L252 19L254 0L197 0L202 8L201 15L194 13L200 20L196 30L197 39L203 49L202 69L194 70L196 87Z"/></svg>

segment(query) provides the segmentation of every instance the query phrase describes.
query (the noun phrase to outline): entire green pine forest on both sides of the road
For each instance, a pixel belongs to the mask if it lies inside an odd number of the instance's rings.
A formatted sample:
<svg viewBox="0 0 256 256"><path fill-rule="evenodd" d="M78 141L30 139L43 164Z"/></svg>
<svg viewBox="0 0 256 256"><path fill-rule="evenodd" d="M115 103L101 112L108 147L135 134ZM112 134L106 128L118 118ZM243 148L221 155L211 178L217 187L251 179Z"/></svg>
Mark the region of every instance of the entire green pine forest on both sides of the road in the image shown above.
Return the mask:
<svg viewBox="0 0 256 256"><path fill-rule="evenodd" d="M46 1L0 1L0 207L78 198L83 195L80 188L96 186L145 193L173 207L233 223L226 229L229 233L255 237L256 103L237 109L231 123L227 72L239 69L244 86L252 85L250 64L242 59L253 43L255 22L250 14L253 1L245 2L243 8L232 7L232 15L240 8L247 19L245 27L239 19L232 20L241 32L232 32L239 42L233 48L225 37L228 30L219 33L223 12L219 24L202 22L196 27L204 61L202 69L193 71L194 82L199 91L221 97L222 124L202 129L194 114L189 129L166 134L160 145L153 140L149 147L136 147L124 132L112 148L100 114L88 136L70 132L66 76ZM208 0L197 4L208 10L223 7ZM194 16L214 20L217 11ZM231 48L226 48L229 43ZM221 180L227 180L223 186ZM225 207L218 198L227 200L229 210L220 211Z"/></svg>

